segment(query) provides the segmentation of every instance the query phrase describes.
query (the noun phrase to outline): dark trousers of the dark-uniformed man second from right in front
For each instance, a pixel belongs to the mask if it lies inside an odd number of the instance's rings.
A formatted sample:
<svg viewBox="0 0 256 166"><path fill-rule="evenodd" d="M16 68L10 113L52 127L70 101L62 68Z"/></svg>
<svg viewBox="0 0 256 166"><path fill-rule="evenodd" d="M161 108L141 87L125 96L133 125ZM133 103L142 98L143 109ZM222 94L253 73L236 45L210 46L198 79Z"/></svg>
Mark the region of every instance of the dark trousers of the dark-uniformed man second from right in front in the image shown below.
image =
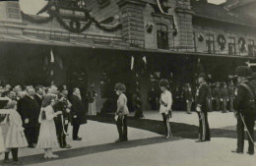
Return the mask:
<svg viewBox="0 0 256 166"><path fill-rule="evenodd" d="M207 112L198 113L199 116L199 139L202 141L211 140Z"/></svg>

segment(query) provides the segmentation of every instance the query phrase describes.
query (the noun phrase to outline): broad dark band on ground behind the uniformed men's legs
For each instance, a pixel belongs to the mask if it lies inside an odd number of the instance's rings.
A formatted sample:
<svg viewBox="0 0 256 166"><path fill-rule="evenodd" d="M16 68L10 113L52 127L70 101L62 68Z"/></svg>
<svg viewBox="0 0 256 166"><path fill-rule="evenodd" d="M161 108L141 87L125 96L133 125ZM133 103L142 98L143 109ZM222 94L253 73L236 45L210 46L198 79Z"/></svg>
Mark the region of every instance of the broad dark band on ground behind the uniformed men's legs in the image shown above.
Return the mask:
<svg viewBox="0 0 256 166"><path fill-rule="evenodd" d="M96 117L90 116L89 120L115 124L113 115L97 115ZM149 120L149 119L136 119L134 117L128 117L128 126L136 129L142 129L150 132L164 135L164 126L161 121ZM182 123L170 123L170 128L173 137L176 138L198 138L198 126L188 125ZM211 127L210 127L211 128ZM211 129L212 138L236 138L236 131L234 127Z"/></svg>

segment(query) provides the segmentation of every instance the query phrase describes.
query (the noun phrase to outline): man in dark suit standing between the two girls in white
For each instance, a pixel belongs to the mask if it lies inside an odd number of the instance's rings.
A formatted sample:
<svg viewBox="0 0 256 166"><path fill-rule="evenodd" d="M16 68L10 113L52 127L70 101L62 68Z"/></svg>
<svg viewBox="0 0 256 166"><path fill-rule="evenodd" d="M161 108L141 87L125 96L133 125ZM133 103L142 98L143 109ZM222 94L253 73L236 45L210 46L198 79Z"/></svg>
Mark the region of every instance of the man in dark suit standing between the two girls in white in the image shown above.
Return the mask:
<svg viewBox="0 0 256 166"><path fill-rule="evenodd" d="M24 96L23 101L20 103L19 112L21 113L25 135L29 142L29 147L34 147L33 144L37 142L39 134L38 117L40 114L40 107L34 99L33 87L27 88L27 95Z"/></svg>

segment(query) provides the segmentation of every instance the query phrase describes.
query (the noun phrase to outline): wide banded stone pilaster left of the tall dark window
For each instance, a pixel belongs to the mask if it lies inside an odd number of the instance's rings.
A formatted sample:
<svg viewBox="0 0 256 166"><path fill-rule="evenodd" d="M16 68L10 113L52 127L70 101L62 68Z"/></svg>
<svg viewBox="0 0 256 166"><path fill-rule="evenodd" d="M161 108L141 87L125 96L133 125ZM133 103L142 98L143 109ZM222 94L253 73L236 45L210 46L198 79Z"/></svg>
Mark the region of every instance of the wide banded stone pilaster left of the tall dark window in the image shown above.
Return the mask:
<svg viewBox="0 0 256 166"><path fill-rule="evenodd" d="M140 0L121 0L118 2L122 17L122 36L127 42L144 47L144 16L145 2Z"/></svg>

